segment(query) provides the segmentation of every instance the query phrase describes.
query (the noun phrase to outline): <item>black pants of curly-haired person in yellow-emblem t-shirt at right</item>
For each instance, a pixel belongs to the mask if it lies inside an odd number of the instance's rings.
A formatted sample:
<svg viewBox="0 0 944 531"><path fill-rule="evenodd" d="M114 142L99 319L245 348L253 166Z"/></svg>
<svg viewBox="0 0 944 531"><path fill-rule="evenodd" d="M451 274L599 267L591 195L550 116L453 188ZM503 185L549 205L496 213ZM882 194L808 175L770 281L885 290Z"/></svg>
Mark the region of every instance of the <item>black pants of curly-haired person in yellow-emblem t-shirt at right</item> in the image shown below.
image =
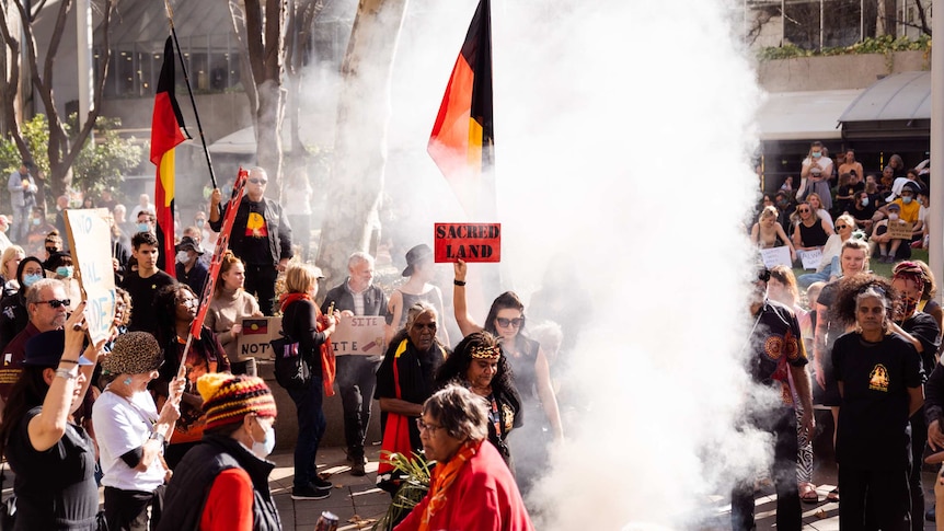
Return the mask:
<svg viewBox="0 0 944 531"><path fill-rule="evenodd" d="M842 531L911 529L908 469L862 470L839 466L839 529ZM920 521L921 516L917 518Z"/></svg>

